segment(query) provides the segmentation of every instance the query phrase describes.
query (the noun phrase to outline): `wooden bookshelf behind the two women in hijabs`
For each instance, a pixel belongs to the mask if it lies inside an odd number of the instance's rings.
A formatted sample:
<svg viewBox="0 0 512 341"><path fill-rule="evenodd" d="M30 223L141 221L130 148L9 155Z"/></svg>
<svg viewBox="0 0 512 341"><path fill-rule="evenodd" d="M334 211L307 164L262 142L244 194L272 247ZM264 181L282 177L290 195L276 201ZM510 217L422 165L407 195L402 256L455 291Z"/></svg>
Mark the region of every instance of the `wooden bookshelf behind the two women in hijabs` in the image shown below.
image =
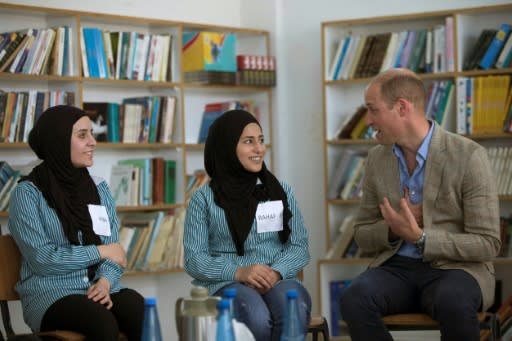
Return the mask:
<svg viewBox="0 0 512 341"><path fill-rule="evenodd" d="M251 100L259 108L259 118L267 141L272 141L272 88L270 86L199 84L185 81L182 40L189 32L208 31L230 33L236 37L236 54L269 55L269 32L259 29L206 25L142 17L109 15L93 12L62 10L46 7L0 3L0 32L30 28L46 29L66 26L70 28L72 47L69 72L65 75L32 75L0 72L3 91L68 91L74 94L74 104L84 102L122 103L128 97L173 96L176 98L171 143L107 143L99 142L95 162L90 173L110 181L110 169L122 159L153 158L176 160L176 201L172 204L119 206L118 213L165 211L186 209L188 175L203 169L204 145L197 143L204 107L207 103ZM165 80L102 79L86 77L83 72L80 30L99 28L110 32L137 32L145 35L171 37L168 77ZM87 52L87 51L86 51ZM0 124L1 126L1 124ZM271 143L267 144L267 164L272 166ZM26 143L0 142L1 160L11 165L27 165L36 161ZM7 225L8 213L0 212L0 224ZM182 272L181 268L165 271L134 271L129 276L140 278Z"/></svg>

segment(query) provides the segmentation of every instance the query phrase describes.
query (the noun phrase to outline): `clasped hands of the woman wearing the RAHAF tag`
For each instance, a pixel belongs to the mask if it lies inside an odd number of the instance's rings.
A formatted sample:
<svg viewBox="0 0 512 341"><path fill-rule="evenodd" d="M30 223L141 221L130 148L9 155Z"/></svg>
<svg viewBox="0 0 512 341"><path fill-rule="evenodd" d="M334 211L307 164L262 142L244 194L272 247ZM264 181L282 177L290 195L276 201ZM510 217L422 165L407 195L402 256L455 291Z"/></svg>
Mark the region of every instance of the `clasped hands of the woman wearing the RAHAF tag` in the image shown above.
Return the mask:
<svg viewBox="0 0 512 341"><path fill-rule="evenodd" d="M264 294L281 279L281 275L268 265L255 264L238 268L235 279Z"/></svg>

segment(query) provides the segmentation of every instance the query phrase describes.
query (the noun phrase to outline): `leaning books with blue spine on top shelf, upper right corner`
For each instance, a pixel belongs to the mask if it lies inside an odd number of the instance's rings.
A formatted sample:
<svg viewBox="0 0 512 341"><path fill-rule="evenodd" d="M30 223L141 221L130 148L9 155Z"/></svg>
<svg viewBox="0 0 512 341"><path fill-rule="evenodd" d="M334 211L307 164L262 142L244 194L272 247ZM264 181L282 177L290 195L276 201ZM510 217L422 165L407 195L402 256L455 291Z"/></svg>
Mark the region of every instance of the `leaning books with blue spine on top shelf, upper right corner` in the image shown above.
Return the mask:
<svg viewBox="0 0 512 341"><path fill-rule="evenodd" d="M499 69L510 67L512 60L510 29L510 24L502 23L498 29L489 28L482 30L476 43L465 58L462 69L488 70L493 67Z"/></svg>

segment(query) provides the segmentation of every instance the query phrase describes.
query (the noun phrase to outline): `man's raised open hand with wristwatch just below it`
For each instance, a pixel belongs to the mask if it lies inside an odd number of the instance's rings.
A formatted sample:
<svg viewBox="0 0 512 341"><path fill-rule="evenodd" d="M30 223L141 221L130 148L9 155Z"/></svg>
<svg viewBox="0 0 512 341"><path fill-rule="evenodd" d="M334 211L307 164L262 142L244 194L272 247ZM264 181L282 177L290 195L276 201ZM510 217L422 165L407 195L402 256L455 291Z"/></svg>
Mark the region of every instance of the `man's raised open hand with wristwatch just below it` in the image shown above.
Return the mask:
<svg viewBox="0 0 512 341"><path fill-rule="evenodd" d="M418 225L410 205L412 205L412 203L410 202L409 197L406 196L400 199L399 212L395 211L393 207L391 207L388 198L384 198L379 207L384 220L386 220L389 228L391 229L391 232L408 242L415 242L421 237L422 229Z"/></svg>

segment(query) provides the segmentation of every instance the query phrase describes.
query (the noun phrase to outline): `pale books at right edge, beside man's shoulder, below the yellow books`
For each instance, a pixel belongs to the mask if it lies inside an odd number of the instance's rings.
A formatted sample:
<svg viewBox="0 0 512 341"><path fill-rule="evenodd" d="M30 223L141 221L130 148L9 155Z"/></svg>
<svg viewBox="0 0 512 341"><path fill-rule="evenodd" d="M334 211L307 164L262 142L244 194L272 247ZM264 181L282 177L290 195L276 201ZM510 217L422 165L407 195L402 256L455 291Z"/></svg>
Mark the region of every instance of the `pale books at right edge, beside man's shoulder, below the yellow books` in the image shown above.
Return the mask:
<svg viewBox="0 0 512 341"><path fill-rule="evenodd" d="M489 147L489 162L499 195L512 195L512 147Z"/></svg>

